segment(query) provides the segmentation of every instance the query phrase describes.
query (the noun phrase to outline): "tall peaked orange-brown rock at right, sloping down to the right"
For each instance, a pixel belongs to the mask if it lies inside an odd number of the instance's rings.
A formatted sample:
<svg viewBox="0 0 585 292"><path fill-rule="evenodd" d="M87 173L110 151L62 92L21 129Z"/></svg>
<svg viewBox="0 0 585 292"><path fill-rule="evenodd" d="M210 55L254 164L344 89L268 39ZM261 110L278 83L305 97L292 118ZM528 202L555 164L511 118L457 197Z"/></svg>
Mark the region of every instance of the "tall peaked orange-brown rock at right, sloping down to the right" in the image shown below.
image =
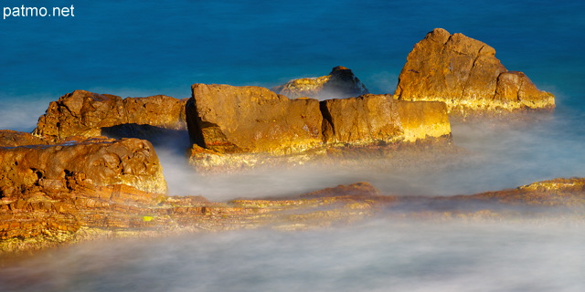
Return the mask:
<svg viewBox="0 0 585 292"><path fill-rule="evenodd" d="M441 28L414 46L395 97L443 101L453 116L463 117L555 107L552 94L538 90L524 73L508 71L493 47Z"/></svg>

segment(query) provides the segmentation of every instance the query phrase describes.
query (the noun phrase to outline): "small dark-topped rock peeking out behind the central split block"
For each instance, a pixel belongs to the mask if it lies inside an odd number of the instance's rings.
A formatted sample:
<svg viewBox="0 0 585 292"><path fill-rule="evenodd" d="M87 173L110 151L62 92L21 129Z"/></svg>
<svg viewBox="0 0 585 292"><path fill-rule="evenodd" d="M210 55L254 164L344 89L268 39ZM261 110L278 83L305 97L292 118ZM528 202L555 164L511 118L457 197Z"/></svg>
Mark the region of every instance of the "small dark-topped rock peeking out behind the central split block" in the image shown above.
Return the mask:
<svg viewBox="0 0 585 292"><path fill-rule="evenodd" d="M272 89L291 99L345 99L369 93L366 86L343 66L337 66L327 76L293 79Z"/></svg>

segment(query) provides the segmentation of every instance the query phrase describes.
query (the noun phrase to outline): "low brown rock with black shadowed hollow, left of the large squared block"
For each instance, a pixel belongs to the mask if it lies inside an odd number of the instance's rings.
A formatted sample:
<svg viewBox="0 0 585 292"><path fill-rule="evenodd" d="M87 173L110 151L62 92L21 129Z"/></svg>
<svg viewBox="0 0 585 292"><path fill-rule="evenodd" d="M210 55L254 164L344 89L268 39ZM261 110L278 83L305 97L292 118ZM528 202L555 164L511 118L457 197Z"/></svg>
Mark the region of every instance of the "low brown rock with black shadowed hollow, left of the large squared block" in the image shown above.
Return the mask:
<svg viewBox="0 0 585 292"><path fill-rule="evenodd" d="M34 134L49 141L63 141L71 136L96 137L127 130L123 125L185 129L185 102L162 95L122 99L76 90L49 104L47 112L38 119Z"/></svg>

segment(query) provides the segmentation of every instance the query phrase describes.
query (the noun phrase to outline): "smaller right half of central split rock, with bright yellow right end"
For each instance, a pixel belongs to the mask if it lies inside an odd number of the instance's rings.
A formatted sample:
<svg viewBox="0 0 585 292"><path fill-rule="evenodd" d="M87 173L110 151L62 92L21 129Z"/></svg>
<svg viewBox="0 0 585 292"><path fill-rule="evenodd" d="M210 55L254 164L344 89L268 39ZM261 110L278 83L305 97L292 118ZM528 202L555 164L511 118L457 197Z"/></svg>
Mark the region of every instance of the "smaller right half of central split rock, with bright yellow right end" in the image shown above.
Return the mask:
<svg viewBox="0 0 585 292"><path fill-rule="evenodd" d="M451 137L447 111L441 102L394 100L368 94L321 101L326 143L376 145Z"/></svg>

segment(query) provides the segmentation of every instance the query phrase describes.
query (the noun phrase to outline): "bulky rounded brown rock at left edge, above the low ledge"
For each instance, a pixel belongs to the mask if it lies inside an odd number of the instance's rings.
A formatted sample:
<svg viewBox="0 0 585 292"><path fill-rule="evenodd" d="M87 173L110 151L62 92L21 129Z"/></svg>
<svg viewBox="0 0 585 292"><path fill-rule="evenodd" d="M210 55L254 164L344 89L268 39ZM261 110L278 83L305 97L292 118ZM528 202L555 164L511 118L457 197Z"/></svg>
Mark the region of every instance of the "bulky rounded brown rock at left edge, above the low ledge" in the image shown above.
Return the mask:
<svg viewBox="0 0 585 292"><path fill-rule="evenodd" d="M0 148L0 157L3 198L113 184L127 184L144 192L166 192L162 167L148 141L90 139Z"/></svg>

